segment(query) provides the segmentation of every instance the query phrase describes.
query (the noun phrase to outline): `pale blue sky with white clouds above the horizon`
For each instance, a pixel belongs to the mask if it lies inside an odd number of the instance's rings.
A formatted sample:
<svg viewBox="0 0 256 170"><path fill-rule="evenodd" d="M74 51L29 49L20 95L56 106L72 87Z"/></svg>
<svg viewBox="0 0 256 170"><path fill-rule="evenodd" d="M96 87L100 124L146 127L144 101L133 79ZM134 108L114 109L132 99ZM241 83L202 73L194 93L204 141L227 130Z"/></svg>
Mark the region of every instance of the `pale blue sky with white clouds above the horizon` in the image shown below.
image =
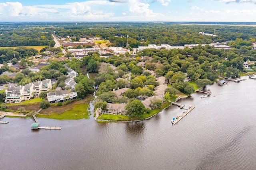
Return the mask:
<svg viewBox="0 0 256 170"><path fill-rule="evenodd" d="M256 0L0 0L0 21L256 21Z"/></svg>

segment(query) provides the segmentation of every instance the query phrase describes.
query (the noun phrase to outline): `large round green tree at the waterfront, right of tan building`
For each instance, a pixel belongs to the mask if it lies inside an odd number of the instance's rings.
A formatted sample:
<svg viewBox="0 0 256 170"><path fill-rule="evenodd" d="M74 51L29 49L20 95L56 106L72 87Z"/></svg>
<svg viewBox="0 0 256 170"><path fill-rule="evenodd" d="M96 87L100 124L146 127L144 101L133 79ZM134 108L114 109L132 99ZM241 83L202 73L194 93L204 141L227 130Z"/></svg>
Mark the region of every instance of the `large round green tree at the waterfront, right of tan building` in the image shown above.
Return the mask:
<svg viewBox="0 0 256 170"><path fill-rule="evenodd" d="M129 117L138 117L143 115L145 106L140 100L130 100L128 104L126 104L125 109L127 110Z"/></svg>

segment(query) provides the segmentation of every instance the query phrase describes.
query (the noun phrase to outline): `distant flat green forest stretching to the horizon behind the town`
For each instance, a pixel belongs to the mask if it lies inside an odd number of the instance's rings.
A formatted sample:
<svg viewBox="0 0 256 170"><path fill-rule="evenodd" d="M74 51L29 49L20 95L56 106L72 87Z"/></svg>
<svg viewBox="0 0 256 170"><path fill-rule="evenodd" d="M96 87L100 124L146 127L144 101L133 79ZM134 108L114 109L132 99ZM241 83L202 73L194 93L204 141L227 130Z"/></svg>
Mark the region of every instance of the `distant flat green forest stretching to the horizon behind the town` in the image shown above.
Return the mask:
<svg viewBox="0 0 256 170"><path fill-rule="evenodd" d="M185 24L185 25L183 25ZM189 25L187 25L189 24ZM212 25L196 25L212 24ZM214 25L215 23L144 23L144 22L33 22L33 23L0 23L0 47L50 45L54 46L52 33L56 36L67 35L76 38L102 37L108 39L111 46L126 47L127 38L130 47L146 46L148 44L169 44L184 46L184 44L209 44L213 42L234 41L236 38L244 41L254 41L255 27L232 26L250 23L216 23L231 25ZM254 23L251 23L254 24ZM55 32L54 32L55 31ZM212 37L199 32L217 34Z"/></svg>

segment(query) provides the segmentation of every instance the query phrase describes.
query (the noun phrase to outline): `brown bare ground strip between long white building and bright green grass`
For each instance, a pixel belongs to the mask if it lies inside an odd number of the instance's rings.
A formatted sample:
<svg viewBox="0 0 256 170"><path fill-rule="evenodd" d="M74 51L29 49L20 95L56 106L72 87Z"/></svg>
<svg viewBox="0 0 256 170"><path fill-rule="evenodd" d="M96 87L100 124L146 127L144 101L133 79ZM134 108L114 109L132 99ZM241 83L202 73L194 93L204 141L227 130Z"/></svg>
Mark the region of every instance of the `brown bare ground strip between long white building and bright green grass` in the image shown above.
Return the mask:
<svg viewBox="0 0 256 170"><path fill-rule="evenodd" d="M64 106L51 106L51 107L49 107L47 109L42 109L40 111L40 114L46 114L46 115L48 113L61 114L64 111L66 111L68 109L71 109L76 104L90 103L91 99L92 99L92 95L88 94L84 100L75 100L74 102L72 102L70 104L67 104L67 105L64 105Z"/></svg>

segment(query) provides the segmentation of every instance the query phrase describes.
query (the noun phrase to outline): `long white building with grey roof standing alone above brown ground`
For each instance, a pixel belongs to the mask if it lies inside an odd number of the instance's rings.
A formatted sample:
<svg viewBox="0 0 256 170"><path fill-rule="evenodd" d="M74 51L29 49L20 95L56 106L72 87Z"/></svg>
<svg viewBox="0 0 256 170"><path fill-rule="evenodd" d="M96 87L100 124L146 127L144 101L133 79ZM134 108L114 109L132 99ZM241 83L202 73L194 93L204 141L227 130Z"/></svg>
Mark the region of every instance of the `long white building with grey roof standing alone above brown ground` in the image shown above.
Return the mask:
<svg viewBox="0 0 256 170"><path fill-rule="evenodd" d="M56 91L56 92L47 93L47 100L50 103L64 102L66 100L76 99L76 96L77 96L77 93L73 89L63 90L63 91Z"/></svg>

